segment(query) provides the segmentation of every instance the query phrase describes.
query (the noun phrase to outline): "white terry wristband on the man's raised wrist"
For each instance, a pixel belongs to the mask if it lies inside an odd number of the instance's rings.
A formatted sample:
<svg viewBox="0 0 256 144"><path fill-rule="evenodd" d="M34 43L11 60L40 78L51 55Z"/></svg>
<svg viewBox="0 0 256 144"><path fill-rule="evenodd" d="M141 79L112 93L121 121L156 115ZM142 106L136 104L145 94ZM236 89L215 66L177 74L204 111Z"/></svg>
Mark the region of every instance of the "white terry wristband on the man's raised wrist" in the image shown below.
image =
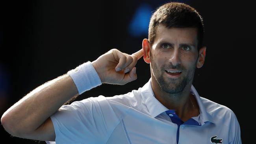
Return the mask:
<svg viewBox="0 0 256 144"><path fill-rule="evenodd" d="M70 70L67 74L73 79L79 94L101 85L100 77L90 61Z"/></svg>

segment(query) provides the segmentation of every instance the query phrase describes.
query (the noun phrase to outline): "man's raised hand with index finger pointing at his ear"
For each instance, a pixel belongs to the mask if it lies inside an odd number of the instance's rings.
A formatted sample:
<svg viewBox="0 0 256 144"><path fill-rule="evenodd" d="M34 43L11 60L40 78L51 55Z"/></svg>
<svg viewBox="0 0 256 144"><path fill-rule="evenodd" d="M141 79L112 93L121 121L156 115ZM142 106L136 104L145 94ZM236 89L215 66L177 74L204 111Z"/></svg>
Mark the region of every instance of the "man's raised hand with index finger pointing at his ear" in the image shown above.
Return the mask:
<svg viewBox="0 0 256 144"><path fill-rule="evenodd" d="M137 79L136 63L143 56L143 49L132 55L117 49L109 50L92 62L102 83L124 85Z"/></svg>

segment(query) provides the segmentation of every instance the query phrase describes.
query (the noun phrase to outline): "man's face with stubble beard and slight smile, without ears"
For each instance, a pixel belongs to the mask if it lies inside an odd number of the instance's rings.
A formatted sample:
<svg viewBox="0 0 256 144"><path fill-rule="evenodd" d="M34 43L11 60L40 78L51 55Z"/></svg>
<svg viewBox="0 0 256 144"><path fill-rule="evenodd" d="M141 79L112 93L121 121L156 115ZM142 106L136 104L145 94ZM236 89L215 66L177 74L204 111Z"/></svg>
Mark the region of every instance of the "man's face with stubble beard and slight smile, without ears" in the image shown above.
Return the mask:
<svg viewBox="0 0 256 144"><path fill-rule="evenodd" d="M161 89L176 94L192 84L197 64L197 29L158 27L150 50L152 78Z"/></svg>

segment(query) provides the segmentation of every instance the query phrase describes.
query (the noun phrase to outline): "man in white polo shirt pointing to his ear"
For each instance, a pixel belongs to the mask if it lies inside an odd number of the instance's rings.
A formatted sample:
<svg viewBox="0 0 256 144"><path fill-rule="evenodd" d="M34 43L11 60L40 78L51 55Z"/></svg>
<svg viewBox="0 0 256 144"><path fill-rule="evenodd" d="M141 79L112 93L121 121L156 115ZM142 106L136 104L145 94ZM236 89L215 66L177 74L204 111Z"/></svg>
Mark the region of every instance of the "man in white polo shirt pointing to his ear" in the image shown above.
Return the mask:
<svg viewBox="0 0 256 144"><path fill-rule="evenodd" d="M110 50L41 85L1 122L13 136L56 144L241 144L236 115L200 97L192 85L195 68L205 60L203 32L195 9L164 4L152 15L141 50L132 55ZM142 88L63 105L102 83L134 81L142 56L151 71Z"/></svg>

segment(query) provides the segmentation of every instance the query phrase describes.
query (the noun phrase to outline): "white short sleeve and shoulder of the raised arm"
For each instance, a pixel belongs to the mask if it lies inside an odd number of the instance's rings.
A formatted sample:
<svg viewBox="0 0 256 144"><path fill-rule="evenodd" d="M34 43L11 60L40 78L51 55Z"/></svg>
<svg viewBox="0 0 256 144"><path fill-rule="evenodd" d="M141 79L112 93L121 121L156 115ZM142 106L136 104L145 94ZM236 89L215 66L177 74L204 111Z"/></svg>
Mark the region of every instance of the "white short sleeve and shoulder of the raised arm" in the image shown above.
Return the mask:
<svg viewBox="0 0 256 144"><path fill-rule="evenodd" d="M56 144L106 143L121 116L104 96L63 105L51 117Z"/></svg>

